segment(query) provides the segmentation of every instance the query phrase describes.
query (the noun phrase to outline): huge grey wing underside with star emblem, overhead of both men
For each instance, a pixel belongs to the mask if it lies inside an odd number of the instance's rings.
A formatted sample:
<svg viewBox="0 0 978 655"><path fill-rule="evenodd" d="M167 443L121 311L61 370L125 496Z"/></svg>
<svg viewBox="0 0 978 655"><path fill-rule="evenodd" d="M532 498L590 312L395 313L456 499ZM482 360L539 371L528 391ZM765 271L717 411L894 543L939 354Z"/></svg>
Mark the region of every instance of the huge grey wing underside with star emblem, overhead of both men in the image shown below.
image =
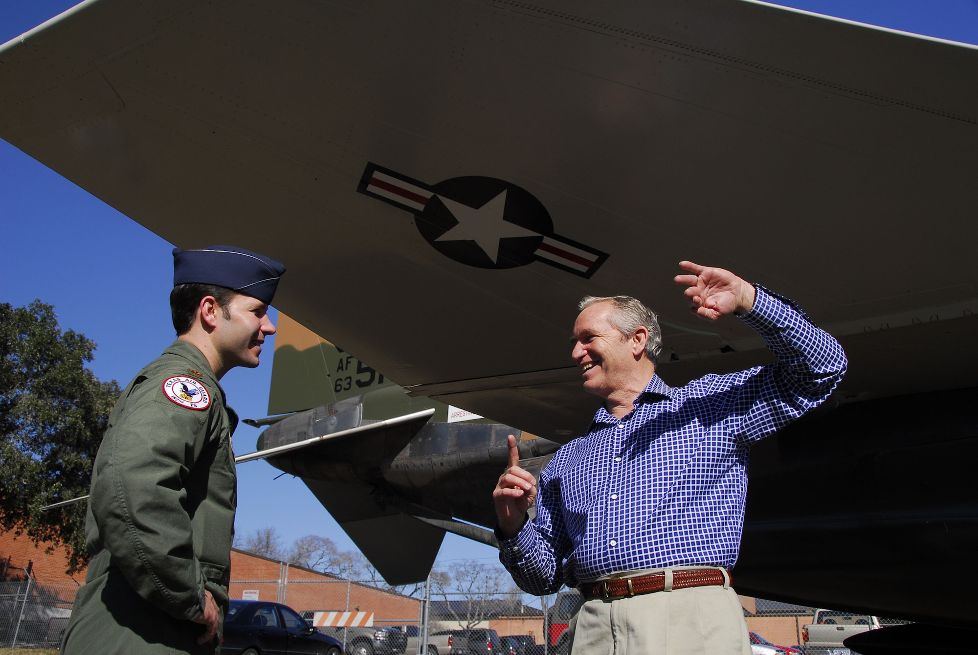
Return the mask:
<svg viewBox="0 0 978 655"><path fill-rule="evenodd" d="M840 336L840 400L978 384L978 51L743 0L90 0L0 48L0 136L415 392L566 440L577 300L682 383L766 361L732 269ZM361 193L358 193L358 189ZM502 199L500 199L502 197Z"/></svg>

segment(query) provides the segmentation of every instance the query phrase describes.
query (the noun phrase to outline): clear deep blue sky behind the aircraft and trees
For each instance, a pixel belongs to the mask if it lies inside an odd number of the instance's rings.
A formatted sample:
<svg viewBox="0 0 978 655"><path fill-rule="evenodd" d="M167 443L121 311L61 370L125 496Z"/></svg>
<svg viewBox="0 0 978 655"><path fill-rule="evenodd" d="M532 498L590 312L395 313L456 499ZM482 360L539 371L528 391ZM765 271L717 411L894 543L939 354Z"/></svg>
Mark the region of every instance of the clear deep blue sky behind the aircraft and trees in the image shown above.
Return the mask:
<svg viewBox="0 0 978 655"><path fill-rule="evenodd" d="M0 0L0 43L65 11L70 0ZM978 44L978 0L794 0L778 4L929 36ZM99 344L92 371L121 385L173 338L167 297L171 245L42 164L0 141L0 302L52 304L62 327ZM273 318L274 315L273 315ZM324 335L329 337L328 334ZM271 345L271 344L270 344ZM256 371L222 381L243 417L265 415L271 347ZM258 430L242 425L239 454ZM297 479L256 461L239 467L237 530L274 525L287 544L306 534L352 548L329 513ZM489 490L486 490L489 493ZM439 558L496 559L496 551L446 537Z"/></svg>

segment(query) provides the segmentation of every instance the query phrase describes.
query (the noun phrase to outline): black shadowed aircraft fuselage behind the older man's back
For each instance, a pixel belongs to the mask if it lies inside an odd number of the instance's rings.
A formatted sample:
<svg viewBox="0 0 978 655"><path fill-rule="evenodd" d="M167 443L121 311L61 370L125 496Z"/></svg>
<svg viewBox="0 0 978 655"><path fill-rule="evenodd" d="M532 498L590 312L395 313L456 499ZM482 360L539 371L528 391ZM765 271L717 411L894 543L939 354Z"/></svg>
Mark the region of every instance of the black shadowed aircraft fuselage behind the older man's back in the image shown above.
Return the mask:
<svg viewBox="0 0 978 655"><path fill-rule="evenodd" d="M978 543L973 395L857 403L754 446L736 589L978 627L959 577L929 576L914 586L903 576L929 562L951 571L970 566Z"/></svg>

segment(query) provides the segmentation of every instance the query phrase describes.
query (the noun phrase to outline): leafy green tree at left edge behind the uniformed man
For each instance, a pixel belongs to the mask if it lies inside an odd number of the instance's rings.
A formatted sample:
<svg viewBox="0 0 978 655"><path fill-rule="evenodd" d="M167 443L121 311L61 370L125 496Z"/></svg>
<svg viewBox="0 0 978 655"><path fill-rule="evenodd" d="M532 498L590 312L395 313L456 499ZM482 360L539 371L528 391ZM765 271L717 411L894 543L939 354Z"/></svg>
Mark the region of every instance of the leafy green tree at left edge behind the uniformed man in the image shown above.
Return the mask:
<svg viewBox="0 0 978 655"><path fill-rule="evenodd" d="M0 303L0 526L35 544L64 545L67 573L88 562L85 510L92 464L119 386L85 363L96 345L62 331L54 307Z"/></svg>

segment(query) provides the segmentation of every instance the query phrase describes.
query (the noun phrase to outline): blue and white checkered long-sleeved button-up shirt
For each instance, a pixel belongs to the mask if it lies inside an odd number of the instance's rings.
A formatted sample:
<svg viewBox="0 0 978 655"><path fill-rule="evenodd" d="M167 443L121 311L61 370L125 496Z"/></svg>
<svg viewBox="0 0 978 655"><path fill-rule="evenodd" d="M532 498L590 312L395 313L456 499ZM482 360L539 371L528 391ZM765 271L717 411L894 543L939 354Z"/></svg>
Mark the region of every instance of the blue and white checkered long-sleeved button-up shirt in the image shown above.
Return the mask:
<svg viewBox="0 0 978 655"><path fill-rule="evenodd" d="M733 567L750 444L817 407L846 370L842 347L763 287L740 319L777 356L673 389L658 375L624 418L602 407L540 474L537 514L500 561L530 593L625 571Z"/></svg>

